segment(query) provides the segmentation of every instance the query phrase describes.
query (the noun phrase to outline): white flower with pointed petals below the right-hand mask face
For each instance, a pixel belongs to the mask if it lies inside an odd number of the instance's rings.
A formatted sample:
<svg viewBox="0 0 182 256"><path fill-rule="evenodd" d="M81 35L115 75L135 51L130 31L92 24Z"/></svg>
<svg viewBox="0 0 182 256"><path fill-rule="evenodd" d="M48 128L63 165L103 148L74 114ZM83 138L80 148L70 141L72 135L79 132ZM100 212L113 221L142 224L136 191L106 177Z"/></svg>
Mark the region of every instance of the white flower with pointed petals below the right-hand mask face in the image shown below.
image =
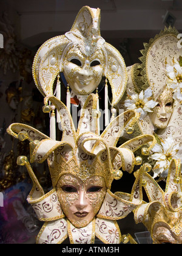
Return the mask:
<svg viewBox="0 0 182 256"><path fill-rule="evenodd" d="M182 160L182 149L178 144L174 143L172 136L166 138L164 142L161 142L161 145L155 144L151 150L151 153L153 154L150 155L149 159L157 160L152 169L154 172L154 179L157 176L167 177L172 158Z"/></svg>

